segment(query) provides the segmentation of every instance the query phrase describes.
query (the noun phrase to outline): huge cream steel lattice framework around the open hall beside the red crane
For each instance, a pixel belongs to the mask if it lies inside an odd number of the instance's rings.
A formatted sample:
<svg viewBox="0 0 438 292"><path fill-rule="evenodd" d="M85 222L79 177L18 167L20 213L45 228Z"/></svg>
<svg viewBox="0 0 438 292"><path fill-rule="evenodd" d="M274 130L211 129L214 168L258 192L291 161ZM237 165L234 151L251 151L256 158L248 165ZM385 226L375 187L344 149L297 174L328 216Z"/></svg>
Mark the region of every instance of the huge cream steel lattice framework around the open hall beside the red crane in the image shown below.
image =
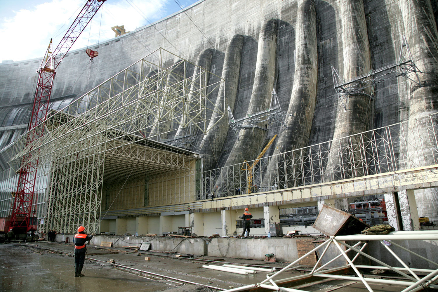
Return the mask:
<svg viewBox="0 0 438 292"><path fill-rule="evenodd" d="M174 70L177 66L183 70ZM223 79L216 76L207 84L206 74L213 75L157 49L64 109L51 111L37 126L47 134L32 143L26 135L19 138L10 162L16 170L21 171L24 155L50 166L41 231L74 232L84 225L97 232L104 184L179 179L194 201L194 152L156 140L171 137L178 127L205 133L212 113L224 116L225 106L219 109L209 98Z"/></svg>

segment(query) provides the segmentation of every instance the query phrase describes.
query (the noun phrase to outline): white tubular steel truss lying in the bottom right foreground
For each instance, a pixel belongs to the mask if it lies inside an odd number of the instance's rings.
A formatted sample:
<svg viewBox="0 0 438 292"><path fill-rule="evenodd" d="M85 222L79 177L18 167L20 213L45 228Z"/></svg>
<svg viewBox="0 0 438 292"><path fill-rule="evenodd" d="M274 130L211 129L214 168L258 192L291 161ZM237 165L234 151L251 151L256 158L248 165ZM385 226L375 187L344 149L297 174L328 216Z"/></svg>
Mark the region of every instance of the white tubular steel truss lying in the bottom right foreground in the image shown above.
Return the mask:
<svg viewBox="0 0 438 292"><path fill-rule="evenodd" d="M313 250L309 251L299 259L293 261L292 263L290 263L280 271L267 274L266 279L261 281L260 283L226 290L226 292L244 291L254 287L260 287L260 288L265 288L275 291L285 291L285 292L305 292L305 290L282 287L283 286L282 283L291 282L294 280L300 280L303 278L309 278L311 276L315 276L319 278L340 279L340 280L350 280L350 281L353 280L357 282L362 282L364 286L367 288L367 290L370 292L374 292L370 284L378 284L379 290L381 284L399 285L403 287L400 290L401 292L420 291L423 290L425 287L431 287L436 289L438 288L438 285L434 285L434 283L438 281L438 264L433 262L432 260L420 256L417 253L414 253L413 251L407 249L404 246L399 245L398 243L395 243L394 240L410 241L410 240L437 240L437 239L438 239L438 231L396 231L396 232L391 232L390 234L387 235L359 234L359 235L346 235L346 236L330 236L330 238L326 240L324 243L315 247ZM354 245L350 245L345 243L346 241L357 241L357 243ZM389 252L389 254L392 255L403 267L392 267L389 264L386 264L383 261L378 260L365 253L364 249L368 245L368 241L380 242L385 247L385 249ZM392 247L390 248L387 244L384 243L384 241L391 244ZM327 263L322 264L320 267L318 267L326 251L329 250L331 246L334 246L337 250L339 250L339 255L329 260ZM293 266L299 263L300 260L303 260L304 258L308 257L311 254L314 255L314 253L318 250L322 250L321 256L319 257L318 261L316 262L316 264L308 274L295 276L295 277L288 277L283 279L279 278L279 276L284 272L296 268ZM397 255L397 253L405 253L405 252L408 252L415 257L427 261L429 264L434 266L435 269L409 267ZM359 255L367 257L379 265L354 264L355 260ZM325 267L329 266L329 264L342 257L348 262L347 265L342 267L332 268L332 269L325 269ZM336 273L339 271L345 271L346 269L352 269L353 273L356 274L356 276L340 275L339 273ZM367 274L362 274L362 272L359 271L358 269L390 270L397 273L400 277L399 279L392 279L392 280L379 279L375 277L371 278L368 277ZM420 274L426 274L426 275L422 276Z"/></svg>

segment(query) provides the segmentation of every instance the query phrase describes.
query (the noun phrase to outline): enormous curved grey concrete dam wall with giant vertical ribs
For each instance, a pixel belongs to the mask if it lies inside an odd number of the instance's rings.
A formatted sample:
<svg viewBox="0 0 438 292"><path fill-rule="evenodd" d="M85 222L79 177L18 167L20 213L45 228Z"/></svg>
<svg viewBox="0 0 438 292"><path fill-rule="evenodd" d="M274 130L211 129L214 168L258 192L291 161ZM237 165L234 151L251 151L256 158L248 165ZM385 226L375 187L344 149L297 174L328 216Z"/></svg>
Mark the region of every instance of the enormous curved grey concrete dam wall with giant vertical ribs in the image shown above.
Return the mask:
<svg viewBox="0 0 438 292"><path fill-rule="evenodd" d="M196 65L164 60L174 75L163 90L179 92L172 88L178 77L205 68L212 74L202 82L224 80L208 93L212 105L225 104L234 120L242 120L232 130L224 108L222 119L212 113L205 133L188 133L168 123L169 132L160 135L154 127L159 119L149 119L145 137L202 158L209 180L197 199L232 196L236 189L239 194L257 193L434 165L434 154L401 139L393 141L398 147L382 150L391 152L391 167L381 161L371 167L370 153L355 148L372 143L373 135L384 131L374 129L403 122L427 132L418 123L422 119L438 126L430 118L438 112L437 21L434 0L201 0L185 13L89 46L99 56L86 70L85 48L70 51L58 68L50 109L63 109L162 47ZM27 129L39 63L0 64L0 148ZM151 71L148 76L155 75ZM191 102L196 99L189 96ZM188 134L195 137L191 143L176 143L176 137ZM244 161L254 161L276 134L264 154L271 158L257 164L249 186L240 175L247 171ZM324 155L317 158L311 145L324 148ZM2 180L14 175L7 157L0 156L0 167ZM415 196L420 216L438 217L438 190L419 189ZM6 209L4 204L1 211Z"/></svg>

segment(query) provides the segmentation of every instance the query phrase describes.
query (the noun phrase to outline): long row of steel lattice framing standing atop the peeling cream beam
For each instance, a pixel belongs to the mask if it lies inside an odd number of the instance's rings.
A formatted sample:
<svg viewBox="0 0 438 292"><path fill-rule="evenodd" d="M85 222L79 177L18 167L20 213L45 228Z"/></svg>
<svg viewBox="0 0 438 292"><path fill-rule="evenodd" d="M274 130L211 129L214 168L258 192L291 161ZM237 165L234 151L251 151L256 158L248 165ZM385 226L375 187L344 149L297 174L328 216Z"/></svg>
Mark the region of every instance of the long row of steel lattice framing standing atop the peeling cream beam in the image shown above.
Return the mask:
<svg viewBox="0 0 438 292"><path fill-rule="evenodd" d="M343 137L261 158L253 169L254 185L261 192L368 176L438 163L438 113L414 122L396 123L356 135ZM331 150L336 148L335 153ZM343 163L327 169L330 155ZM359 160L356 158L360 157ZM274 160L275 168L269 169ZM204 172L203 198L232 196L235 188L247 192L245 162ZM242 169L244 168L244 169ZM221 173L227 173L221 176ZM219 181L219 178L224 178ZM216 190L215 186L221 186Z"/></svg>

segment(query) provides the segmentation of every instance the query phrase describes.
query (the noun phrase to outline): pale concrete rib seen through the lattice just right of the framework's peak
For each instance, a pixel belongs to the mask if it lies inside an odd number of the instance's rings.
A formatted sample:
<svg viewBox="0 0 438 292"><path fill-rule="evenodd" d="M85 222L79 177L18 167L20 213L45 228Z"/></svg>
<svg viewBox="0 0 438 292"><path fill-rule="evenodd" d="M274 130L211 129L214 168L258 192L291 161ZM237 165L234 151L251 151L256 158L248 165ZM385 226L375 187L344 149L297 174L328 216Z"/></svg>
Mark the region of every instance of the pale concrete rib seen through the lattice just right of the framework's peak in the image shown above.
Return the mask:
<svg viewBox="0 0 438 292"><path fill-rule="evenodd" d="M172 130L172 124L168 119L168 110L166 108L174 103L173 99L176 95L181 94L181 81L184 79L184 73L185 62L183 60L178 60L172 67L167 69L166 86L148 138L162 141L167 138L167 134Z"/></svg>

